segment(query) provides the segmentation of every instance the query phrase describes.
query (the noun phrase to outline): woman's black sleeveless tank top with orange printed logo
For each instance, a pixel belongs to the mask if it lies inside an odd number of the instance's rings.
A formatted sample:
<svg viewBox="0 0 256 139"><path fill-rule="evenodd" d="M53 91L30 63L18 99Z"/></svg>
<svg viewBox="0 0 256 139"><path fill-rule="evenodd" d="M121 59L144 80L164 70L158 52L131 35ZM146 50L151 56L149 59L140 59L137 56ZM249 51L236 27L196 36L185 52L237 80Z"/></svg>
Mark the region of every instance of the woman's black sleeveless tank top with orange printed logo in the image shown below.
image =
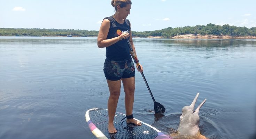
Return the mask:
<svg viewBox="0 0 256 139"><path fill-rule="evenodd" d="M121 35L123 32L129 33L131 30L130 21L128 19L125 19L123 24L119 24L113 16L106 17L104 19L108 19L110 21L110 28L107 39L115 38ZM115 61L131 59L130 48L127 40L122 39L115 44L106 47L106 57Z"/></svg>

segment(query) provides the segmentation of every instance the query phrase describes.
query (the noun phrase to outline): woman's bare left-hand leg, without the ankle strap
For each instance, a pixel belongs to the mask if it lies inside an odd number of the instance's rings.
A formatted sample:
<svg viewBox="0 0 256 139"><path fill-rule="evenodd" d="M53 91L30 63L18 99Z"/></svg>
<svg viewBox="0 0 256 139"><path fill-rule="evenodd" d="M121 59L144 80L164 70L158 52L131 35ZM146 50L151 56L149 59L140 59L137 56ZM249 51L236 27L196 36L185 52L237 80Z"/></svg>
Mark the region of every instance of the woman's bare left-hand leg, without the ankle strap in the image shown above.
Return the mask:
<svg viewBox="0 0 256 139"><path fill-rule="evenodd" d="M120 89L121 89L121 80L118 81L111 81L107 80L108 88L109 88L109 98L108 98L108 132L109 133L116 133L116 129L114 126L114 117L116 113L117 102L120 96Z"/></svg>

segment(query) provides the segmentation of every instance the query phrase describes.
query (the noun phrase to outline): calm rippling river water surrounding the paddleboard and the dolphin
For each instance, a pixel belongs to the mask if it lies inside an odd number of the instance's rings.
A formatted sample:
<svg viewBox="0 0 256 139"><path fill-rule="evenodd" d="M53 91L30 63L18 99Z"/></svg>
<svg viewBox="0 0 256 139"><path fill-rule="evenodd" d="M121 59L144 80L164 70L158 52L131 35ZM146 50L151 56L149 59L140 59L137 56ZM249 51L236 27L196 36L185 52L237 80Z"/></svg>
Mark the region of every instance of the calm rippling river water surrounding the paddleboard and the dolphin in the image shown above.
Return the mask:
<svg viewBox="0 0 256 139"><path fill-rule="evenodd" d="M200 92L200 131L210 139L252 138L256 129L256 40L134 39L134 117L166 134ZM0 138L95 138L84 114L107 108L105 48L96 38L0 37ZM199 104L196 104L199 105ZM125 113L122 89L117 111Z"/></svg>

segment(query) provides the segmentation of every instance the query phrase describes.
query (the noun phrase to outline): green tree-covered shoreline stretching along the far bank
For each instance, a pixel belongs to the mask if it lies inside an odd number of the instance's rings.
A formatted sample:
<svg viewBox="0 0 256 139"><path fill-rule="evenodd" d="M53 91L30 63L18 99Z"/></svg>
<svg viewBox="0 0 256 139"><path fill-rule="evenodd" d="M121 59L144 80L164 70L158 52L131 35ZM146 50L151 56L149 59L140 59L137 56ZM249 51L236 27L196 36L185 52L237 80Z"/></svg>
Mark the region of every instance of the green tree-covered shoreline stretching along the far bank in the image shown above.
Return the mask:
<svg viewBox="0 0 256 139"><path fill-rule="evenodd" d="M99 31L88 30L62 30L62 29L40 29L40 28L0 28L0 36L83 36L96 37ZM184 27L168 27L155 31L133 31L132 36L147 38L148 36L161 36L162 38L171 38L176 35L229 35L229 36L256 36L256 27L236 27L226 25L207 24Z"/></svg>

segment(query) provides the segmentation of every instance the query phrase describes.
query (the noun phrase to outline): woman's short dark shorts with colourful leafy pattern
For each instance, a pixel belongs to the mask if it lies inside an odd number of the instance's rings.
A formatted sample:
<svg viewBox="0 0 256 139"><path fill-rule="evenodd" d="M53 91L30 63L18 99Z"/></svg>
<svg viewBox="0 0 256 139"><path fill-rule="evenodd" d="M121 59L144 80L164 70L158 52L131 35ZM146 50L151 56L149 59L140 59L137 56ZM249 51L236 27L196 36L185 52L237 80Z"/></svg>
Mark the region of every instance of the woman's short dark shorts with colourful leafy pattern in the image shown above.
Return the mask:
<svg viewBox="0 0 256 139"><path fill-rule="evenodd" d="M117 81L121 78L134 77L135 74L132 59L125 61L114 61L106 58L103 71L106 79L111 81Z"/></svg>

